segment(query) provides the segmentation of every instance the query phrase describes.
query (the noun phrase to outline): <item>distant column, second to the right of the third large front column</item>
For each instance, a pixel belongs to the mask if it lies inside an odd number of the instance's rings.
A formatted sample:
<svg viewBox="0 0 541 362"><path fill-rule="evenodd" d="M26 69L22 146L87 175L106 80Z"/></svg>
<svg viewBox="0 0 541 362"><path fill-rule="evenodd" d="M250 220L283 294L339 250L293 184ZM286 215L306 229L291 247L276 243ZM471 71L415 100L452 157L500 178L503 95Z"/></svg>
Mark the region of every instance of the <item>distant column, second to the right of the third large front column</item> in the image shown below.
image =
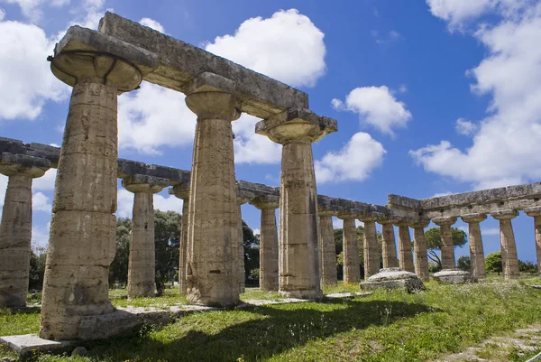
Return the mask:
<svg viewBox="0 0 541 362"><path fill-rule="evenodd" d="M359 280L361 280L361 263L359 261L359 243L357 241L355 218L341 215L338 217L344 220L344 226L342 227L344 283L359 283Z"/></svg>

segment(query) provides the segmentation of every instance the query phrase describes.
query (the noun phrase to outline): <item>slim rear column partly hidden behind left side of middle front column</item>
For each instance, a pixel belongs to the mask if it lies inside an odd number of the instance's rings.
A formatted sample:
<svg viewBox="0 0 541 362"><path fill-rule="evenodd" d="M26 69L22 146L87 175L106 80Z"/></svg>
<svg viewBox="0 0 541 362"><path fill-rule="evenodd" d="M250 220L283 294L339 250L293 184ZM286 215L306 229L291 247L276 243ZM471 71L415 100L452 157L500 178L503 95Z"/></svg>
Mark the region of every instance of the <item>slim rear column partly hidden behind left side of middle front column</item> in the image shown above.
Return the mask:
<svg viewBox="0 0 541 362"><path fill-rule="evenodd" d="M181 183L173 186L170 188L170 194L182 199L182 225L180 226L179 245L179 294L186 295L188 289L186 265L188 259L189 184Z"/></svg>

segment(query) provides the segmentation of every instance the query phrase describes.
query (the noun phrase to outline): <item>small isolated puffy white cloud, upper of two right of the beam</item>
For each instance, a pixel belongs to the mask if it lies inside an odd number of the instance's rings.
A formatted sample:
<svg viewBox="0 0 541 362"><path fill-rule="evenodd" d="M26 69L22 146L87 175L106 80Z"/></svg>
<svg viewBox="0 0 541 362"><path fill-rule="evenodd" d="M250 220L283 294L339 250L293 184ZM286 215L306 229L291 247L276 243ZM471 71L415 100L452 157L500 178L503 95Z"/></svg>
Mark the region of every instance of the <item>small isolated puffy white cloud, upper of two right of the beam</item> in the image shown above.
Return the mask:
<svg viewBox="0 0 541 362"><path fill-rule="evenodd" d="M385 86L354 88L345 97L345 103L333 99L331 105L336 110L346 109L359 114L361 122L390 135L393 134L393 127L403 127L411 119L406 105L399 102Z"/></svg>

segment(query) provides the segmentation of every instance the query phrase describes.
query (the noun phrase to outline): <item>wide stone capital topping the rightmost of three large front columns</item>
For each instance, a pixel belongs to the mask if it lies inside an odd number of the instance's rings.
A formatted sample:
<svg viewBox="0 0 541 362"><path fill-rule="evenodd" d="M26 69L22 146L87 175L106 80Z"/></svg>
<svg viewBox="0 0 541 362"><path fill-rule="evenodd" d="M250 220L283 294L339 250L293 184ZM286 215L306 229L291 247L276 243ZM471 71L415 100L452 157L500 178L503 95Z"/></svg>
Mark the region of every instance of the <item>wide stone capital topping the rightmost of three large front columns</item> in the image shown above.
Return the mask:
<svg viewBox="0 0 541 362"><path fill-rule="evenodd" d="M298 138L316 142L337 130L334 119L317 116L307 108L288 109L255 125L256 134L266 135L277 144Z"/></svg>

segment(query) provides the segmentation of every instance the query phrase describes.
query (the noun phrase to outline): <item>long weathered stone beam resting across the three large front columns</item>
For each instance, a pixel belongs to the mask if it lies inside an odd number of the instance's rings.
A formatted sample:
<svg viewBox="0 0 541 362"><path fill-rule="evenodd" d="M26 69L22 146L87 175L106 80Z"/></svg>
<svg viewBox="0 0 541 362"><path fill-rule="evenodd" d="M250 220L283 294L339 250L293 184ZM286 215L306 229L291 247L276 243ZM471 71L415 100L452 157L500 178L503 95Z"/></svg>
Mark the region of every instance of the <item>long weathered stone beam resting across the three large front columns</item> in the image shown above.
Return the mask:
<svg viewBox="0 0 541 362"><path fill-rule="evenodd" d="M159 67L144 79L161 87L185 92L192 79L210 72L234 81L241 110L252 116L268 118L289 108L308 107L307 94L298 89L119 15L105 13L98 29L155 52Z"/></svg>

